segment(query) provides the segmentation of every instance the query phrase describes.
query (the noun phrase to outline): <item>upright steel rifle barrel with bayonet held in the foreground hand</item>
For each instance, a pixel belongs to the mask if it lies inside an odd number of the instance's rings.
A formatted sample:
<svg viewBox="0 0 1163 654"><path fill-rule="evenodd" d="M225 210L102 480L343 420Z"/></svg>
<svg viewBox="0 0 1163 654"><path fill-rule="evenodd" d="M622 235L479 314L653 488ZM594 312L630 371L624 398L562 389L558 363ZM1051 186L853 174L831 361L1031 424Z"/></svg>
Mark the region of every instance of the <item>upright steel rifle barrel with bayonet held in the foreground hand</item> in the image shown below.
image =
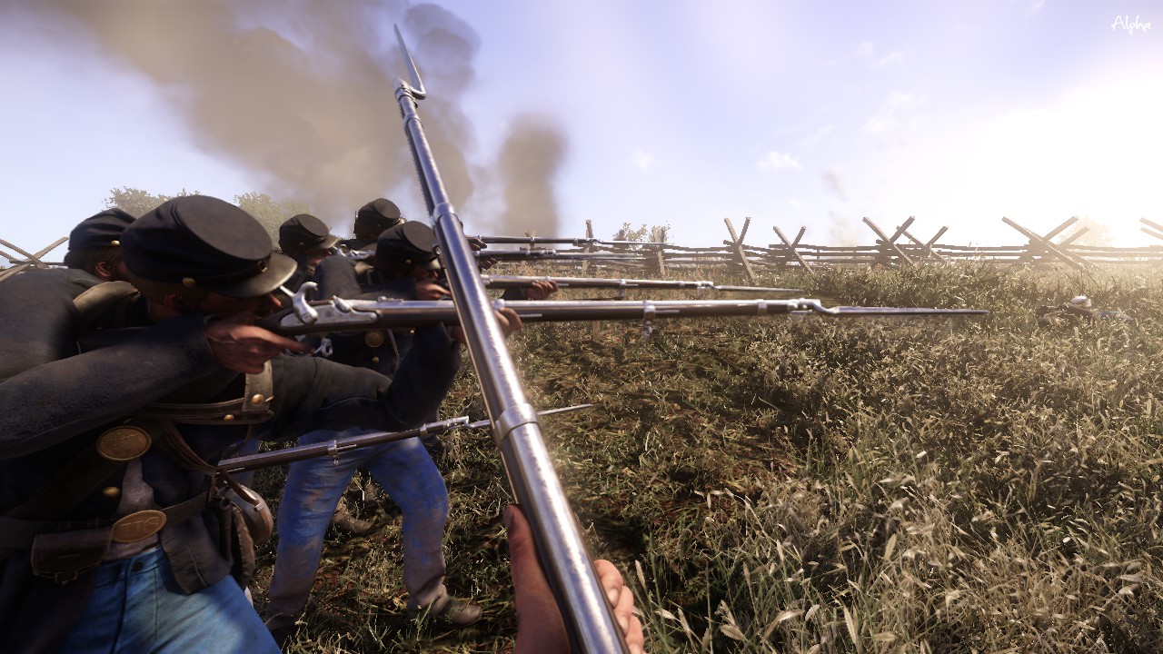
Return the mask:
<svg viewBox="0 0 1163 654"><path fill-rule="evenodd" d="M400 28L394 29L411 78L411 83L395 80L395 100L509 486L529 519L541 568L557 599L571 647L578 652L626 654L626 638L593 570L577 518L541 436L537 412L521 388L493 305L480 283L472 247L420 123L416 109L427 95L420 71Z"/></svg>

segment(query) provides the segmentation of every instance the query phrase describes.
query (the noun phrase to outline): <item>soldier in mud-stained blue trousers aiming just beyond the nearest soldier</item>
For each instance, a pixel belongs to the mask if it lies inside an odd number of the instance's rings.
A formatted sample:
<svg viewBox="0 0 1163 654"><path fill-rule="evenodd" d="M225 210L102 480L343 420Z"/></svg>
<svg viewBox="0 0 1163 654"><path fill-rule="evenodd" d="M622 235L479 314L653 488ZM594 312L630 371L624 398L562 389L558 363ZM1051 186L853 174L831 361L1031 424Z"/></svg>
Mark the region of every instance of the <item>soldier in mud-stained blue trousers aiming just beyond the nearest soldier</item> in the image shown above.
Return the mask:
<svg viewBox="0 0 1163 654"><path fill-rule="evenodd" d="M374 265L380 278L390 283L361 285L349 260L330 257L317 270L320 294L355 298L371 293L373 297L400 299L444 297L448 291L436 284L436 271L441 265L433 243L433 230L419 222L404 222L386 229L378 239ZM418 333L412 329L377 329L334 335L331 358L394 376L415 347ZM433 408L426 421L436 420L436 417L437 411ZM343 435L356 433L362 431ZM299 445L335 438L336 434L330 431L314 432L300 438ZM357 468L368 471L400 506L404 585L408 591L409 611L419 613L428 607L434 617L455 627L468 626L480 618L479 605L449 596L444 587L448 489L427 449L430 446L429 442L407 439L342 453L328 460L298 461L290 465L279 503L279 542L266 606L266 626L277 640L288 635L307 605L331 512Z"/></svg>

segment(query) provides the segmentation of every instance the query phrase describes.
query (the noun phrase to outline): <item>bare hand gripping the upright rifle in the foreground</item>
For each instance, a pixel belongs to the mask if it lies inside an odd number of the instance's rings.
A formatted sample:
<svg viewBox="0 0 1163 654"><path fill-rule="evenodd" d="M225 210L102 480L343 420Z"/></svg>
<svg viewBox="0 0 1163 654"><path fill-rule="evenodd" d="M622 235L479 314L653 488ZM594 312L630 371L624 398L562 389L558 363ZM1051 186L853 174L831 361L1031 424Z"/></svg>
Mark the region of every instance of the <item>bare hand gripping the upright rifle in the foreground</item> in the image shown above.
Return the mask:
<svg viewBox="0 0 1163 654"><path fill-rule="evenodd" d="M529 523L516 505L505 509L505 529L508 532L509 567L513 573L513 595L516 604L516 647L514 654L556 654L570 651L565 623L557 610L557 600L549 589ZM606 560L594 562L598 580L606 591L606 599L614 609L614 619L622 628L632 654L644 654L645 637L642 623L634 616L634 595L626 588L621 573Z"/></svg>

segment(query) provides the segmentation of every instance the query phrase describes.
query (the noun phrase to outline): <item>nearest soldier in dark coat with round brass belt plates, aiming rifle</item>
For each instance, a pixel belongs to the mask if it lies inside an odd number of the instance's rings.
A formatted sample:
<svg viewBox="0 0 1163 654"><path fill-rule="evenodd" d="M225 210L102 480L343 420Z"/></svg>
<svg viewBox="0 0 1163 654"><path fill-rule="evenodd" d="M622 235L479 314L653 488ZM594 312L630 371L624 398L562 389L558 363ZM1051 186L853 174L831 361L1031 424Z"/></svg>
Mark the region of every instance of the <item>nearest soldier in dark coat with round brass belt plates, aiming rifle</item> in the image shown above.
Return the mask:
<svg viewBox="0 0 1163 654"><path fill-rule="evenodd" d="M81 301L116 283L34 270L0 287L0 649L276 652L241 589L250 534L213 464L245 438L411 428L448 391L457 346L416 329L398 383L281 356L307 348L254 322L295 264L222 200L170 200L121 248L142 297L120 324ZM137 329L78 351L97 327Z"/></svg>

